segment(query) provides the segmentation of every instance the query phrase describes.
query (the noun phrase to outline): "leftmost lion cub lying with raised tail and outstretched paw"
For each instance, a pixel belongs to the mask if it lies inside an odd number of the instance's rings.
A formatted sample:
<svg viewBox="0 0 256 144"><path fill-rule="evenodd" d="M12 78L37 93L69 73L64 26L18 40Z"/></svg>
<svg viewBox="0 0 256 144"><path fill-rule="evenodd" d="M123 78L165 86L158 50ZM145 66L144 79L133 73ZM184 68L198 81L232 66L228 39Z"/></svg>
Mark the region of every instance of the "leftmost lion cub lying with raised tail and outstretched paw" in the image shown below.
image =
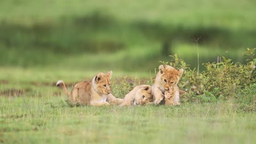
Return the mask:
<svg viewBox="0 0 256 144"><path fill-rule="evenodd" d="M115 98L110 91L110 79L112 71L108 73L98 73L91 81L83 81L75 84L71 93L67 91L65 83L59 80L56 86L62 87L63 91L68 95L69 103L73 105L93 105L102 106L109 105L107 99L111 103L121 104L123 99Z"/></svg>

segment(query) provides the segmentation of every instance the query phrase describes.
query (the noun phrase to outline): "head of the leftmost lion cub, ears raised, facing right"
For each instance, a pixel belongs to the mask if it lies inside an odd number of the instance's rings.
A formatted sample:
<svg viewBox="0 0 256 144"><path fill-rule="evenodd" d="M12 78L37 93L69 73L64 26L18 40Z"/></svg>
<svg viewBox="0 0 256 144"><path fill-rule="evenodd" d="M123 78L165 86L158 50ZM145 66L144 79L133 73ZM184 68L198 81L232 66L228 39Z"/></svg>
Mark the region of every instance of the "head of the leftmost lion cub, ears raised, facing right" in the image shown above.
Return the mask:
<svg viewBox="0 0 256 144"><path fill-rule="evenodd" d="M98 73L92 79L92 86L94 90L100 95L108 95L111 93L110 90L110 79L112 76L112 71L105 73Z"/></svg>

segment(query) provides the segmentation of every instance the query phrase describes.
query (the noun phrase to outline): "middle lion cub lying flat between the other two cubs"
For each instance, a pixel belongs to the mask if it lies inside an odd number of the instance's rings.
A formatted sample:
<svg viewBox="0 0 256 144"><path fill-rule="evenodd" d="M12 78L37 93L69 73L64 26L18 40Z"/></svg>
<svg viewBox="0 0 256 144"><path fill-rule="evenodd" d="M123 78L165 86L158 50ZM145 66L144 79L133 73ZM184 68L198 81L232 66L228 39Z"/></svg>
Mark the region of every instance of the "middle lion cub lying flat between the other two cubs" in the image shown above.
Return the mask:
<svg viewBox="0 0 256 144"><path fill-rule="evenodd" d="M151 86L139 85L125 95L124 101L120 106L144 105L152 102L153 96L151 94Z"/></svg>

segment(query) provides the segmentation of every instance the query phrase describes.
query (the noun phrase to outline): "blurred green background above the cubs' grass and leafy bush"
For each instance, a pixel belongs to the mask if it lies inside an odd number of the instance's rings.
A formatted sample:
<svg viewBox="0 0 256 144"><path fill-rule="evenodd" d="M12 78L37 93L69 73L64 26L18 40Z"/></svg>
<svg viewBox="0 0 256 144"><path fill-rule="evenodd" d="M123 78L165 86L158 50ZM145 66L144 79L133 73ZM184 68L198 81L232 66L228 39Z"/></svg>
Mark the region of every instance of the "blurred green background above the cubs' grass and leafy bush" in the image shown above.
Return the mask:
<svg viewBox="0 0 256 144"><path fill-rule="evenodd" d="M1 0L0 67L149 73L177 53L192 68L245 62L256 1ZM202 66L200 66L202 68Z"/></svg>

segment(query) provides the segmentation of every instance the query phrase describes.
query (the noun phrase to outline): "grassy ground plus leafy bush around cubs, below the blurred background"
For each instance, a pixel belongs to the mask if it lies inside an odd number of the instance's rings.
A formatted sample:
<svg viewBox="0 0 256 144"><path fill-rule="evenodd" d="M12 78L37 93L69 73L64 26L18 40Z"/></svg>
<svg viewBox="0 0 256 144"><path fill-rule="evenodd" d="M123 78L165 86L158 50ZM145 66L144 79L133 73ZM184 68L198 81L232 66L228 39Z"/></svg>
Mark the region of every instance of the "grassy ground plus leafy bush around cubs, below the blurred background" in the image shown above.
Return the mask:
<svg viewBox="0 0 256 144"><path fill-rule="evenodd" d="M180 106L70 107L66 103L67 96L55 87L57 79L67 80L70 91L74 81L80 81L84 74L92 77L94 73L1 70L0 76L8 73L9 76L0 77L0 141L254 143L254 50L248 49L245 53L248 64L231 63L230 59L223 58L218 64L206 64L207 70L199 74L190 70L177 55L171 63L163 62L185 69L180 87L189 90L181 96ZM118 77L112 79L112 92L120 98L134 86L154 81L152 75L148 79Z"/></svg>

